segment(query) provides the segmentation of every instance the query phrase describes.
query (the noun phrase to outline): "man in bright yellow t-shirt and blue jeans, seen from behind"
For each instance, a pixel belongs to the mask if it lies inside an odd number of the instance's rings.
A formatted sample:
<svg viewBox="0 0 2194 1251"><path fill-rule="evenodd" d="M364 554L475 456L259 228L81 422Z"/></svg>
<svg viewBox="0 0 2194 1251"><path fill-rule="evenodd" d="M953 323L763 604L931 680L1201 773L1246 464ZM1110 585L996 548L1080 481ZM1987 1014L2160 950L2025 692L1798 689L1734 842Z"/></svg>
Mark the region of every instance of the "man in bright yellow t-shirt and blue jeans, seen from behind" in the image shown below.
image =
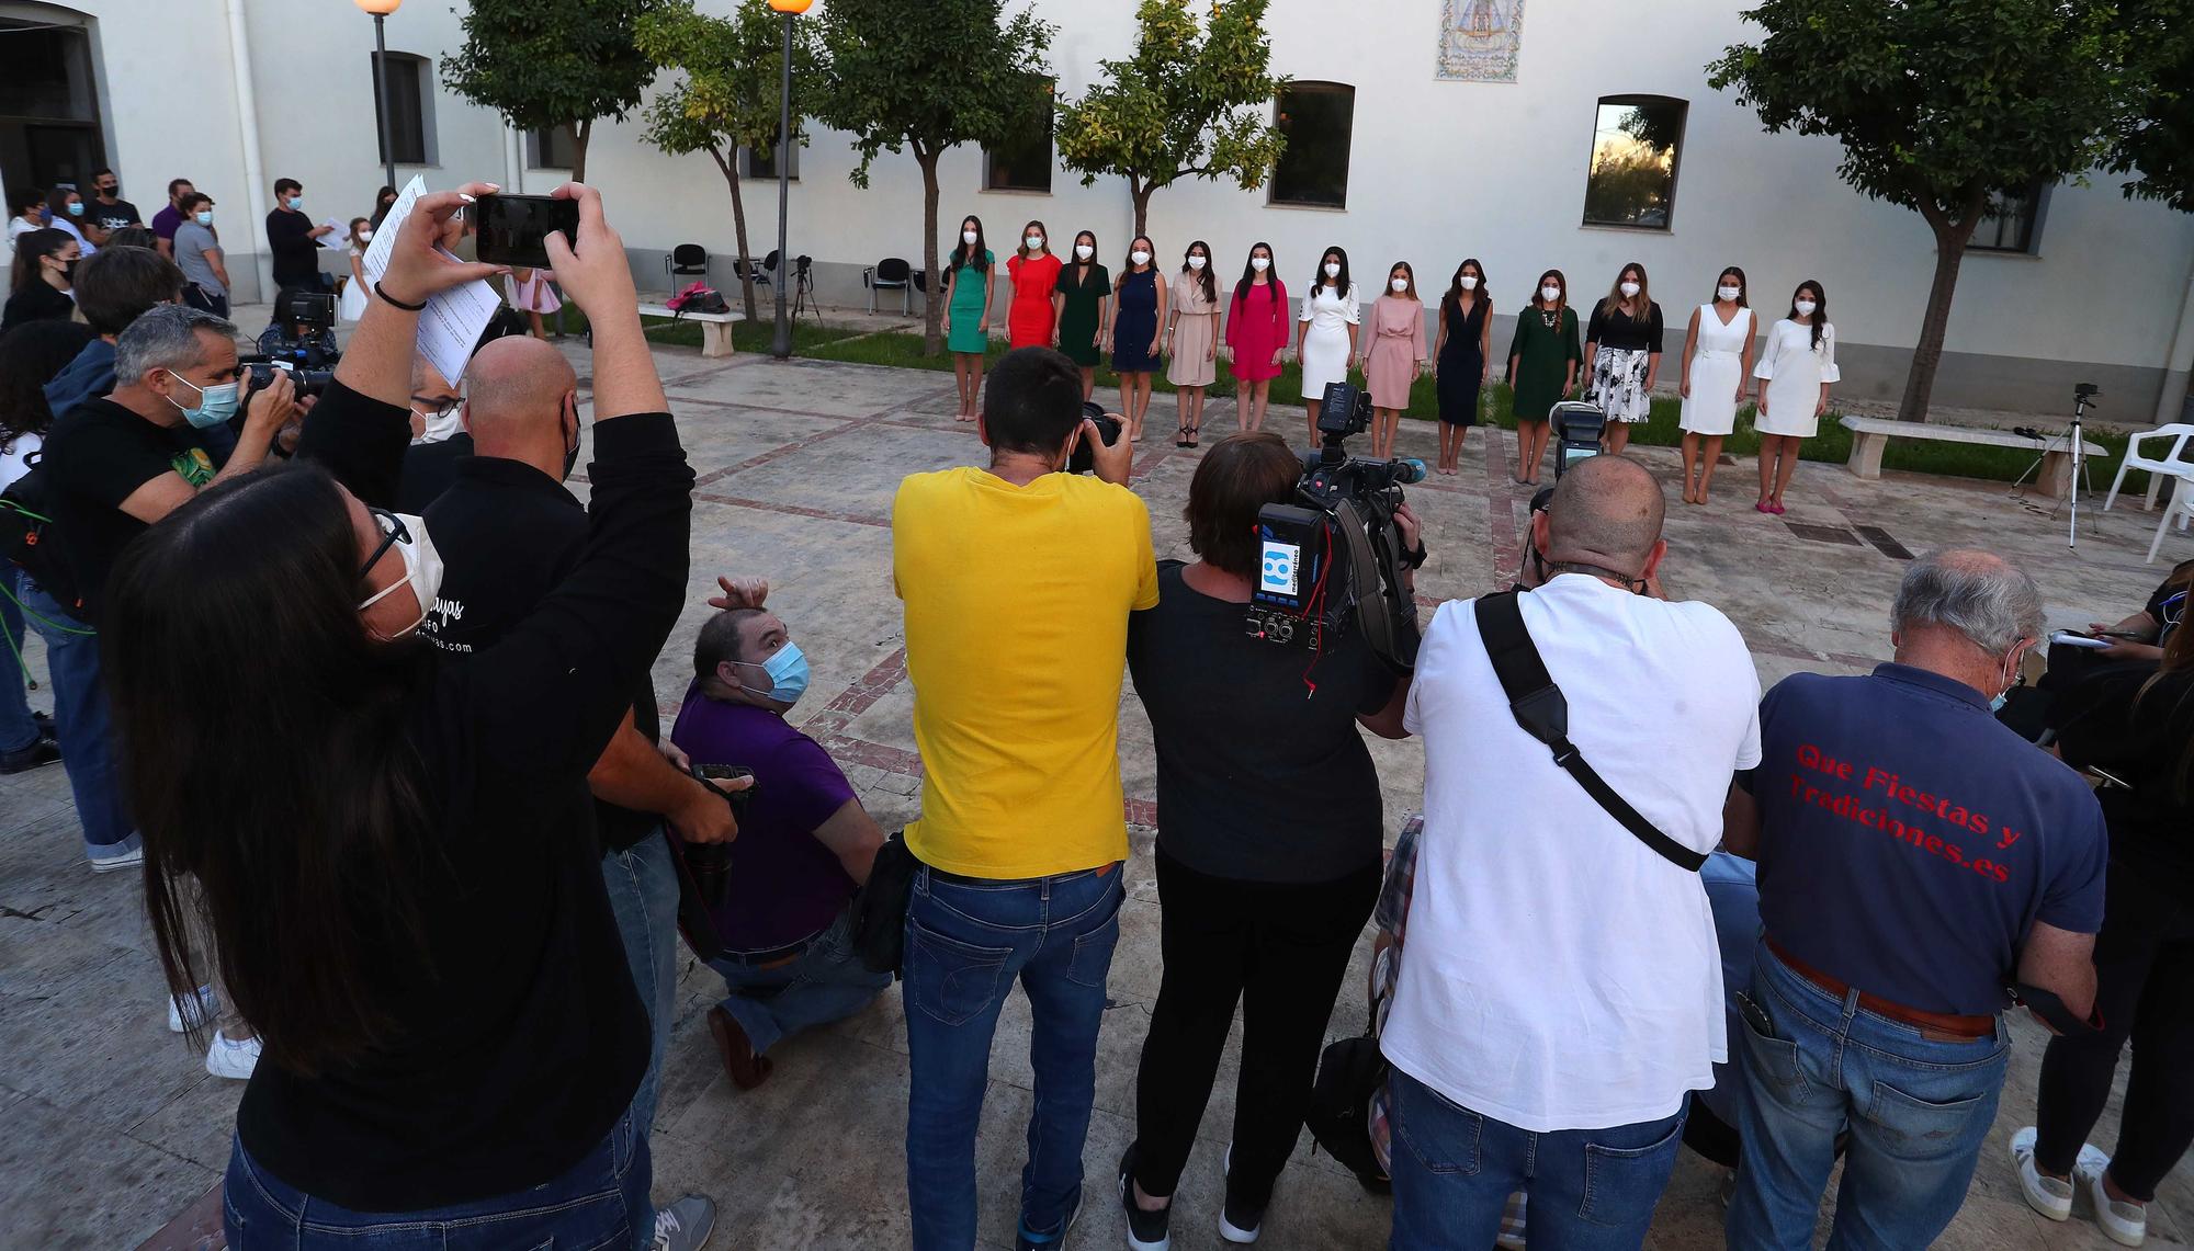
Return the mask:
<svg viewBox="0 0 2194 1251"><path fill-rule="evenodd" d="M904 963L917 1251L974 1244L974 1132L1016 977L1036 1071L1018 1247L1055 1244L1082 1205L1128 856L1128 612L1158 604L1132 448L1082 417L1079 369L1025 347L987 382L989 467L913 474L891 509L924 768ZM1079 443L1095 478L1062 472Z"/></svg>

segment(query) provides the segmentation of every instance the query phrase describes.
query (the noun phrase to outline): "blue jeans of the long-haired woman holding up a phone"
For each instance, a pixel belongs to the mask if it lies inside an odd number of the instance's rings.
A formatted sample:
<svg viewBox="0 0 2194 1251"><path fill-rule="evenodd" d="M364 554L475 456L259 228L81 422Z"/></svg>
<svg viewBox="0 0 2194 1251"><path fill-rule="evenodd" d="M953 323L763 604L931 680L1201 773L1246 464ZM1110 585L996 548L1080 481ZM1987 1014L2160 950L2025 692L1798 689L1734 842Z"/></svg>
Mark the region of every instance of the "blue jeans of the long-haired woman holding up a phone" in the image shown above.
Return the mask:
<svg viewBox="0 0 2194 1251"><path fill-rule="evenodd" d="M654 1236L647 1135L621 1117L564 1176L428 1211L351 1211L259 1168L237 1141L222 1181L230 1251L625 1251Z"/></svg>

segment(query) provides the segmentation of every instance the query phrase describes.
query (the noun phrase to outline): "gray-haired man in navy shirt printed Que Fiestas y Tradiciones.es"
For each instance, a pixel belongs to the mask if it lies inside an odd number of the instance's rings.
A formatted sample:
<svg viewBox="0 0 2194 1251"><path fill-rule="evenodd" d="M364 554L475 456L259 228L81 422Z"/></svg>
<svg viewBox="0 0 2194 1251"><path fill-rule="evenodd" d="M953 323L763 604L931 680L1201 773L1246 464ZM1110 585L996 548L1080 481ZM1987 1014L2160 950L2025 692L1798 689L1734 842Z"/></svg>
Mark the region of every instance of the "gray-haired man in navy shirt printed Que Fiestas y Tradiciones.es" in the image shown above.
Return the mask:
<svg viewBox="0 0 2194 1251"><path fill-rule="evenodd" d="M1990 715L2043 632L2034 582L1933 551L1889 626L1896 661L1874 674L1768 691L1762 764L1731 792L1729 849L1757 852L1766 931L1731 1247L1812 1247L1843 1126L1830 1242L1931 1244L1997 1115L2005 985L2054 994L2060 1023L2093 1007L2102 808Z"/></svg>

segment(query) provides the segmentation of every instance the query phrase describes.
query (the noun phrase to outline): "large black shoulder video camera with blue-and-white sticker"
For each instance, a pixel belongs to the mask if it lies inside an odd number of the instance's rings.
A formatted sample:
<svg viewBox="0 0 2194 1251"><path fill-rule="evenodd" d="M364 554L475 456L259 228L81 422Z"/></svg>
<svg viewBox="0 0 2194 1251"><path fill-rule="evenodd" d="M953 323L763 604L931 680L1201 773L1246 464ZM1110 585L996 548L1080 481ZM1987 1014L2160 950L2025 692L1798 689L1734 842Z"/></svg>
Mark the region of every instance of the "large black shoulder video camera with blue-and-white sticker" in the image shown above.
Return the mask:
<svg viewBox="0 0 2194 1251"><path fill-rule="evenodd" d="M1264 553L1248 632L1325 652L1360 628L1378 658L1406 674L1417 665L1417 604L1402 586L1402 568L1422 564L1424 551L1413 560L1402 549L1393 514L1402 487L1424 481L1424 461L1349 457L1343 439L1369 428L1371 397L1347 382L1327 384L1321 448L1303 457L1297 503L1257 511Z"/></svg>

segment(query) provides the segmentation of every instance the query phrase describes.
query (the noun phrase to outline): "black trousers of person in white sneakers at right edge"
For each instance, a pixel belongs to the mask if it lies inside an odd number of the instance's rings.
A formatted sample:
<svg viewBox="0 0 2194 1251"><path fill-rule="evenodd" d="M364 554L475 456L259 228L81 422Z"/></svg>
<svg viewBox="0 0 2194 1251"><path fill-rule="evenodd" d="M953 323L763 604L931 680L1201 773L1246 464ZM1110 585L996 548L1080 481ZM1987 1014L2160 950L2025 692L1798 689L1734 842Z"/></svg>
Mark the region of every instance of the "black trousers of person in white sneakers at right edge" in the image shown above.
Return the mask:
<svg viewBox="0 0 2194 1251"><path fill-rule="evenodd" d="M2034 1163L2071 1172L2133 1038L2111 1181L2146 1203L2194 1143L2194 909L2117 863L2095 935L2095 1007L2102 1032L2051 1038L2043 1053Z"/></svg>

